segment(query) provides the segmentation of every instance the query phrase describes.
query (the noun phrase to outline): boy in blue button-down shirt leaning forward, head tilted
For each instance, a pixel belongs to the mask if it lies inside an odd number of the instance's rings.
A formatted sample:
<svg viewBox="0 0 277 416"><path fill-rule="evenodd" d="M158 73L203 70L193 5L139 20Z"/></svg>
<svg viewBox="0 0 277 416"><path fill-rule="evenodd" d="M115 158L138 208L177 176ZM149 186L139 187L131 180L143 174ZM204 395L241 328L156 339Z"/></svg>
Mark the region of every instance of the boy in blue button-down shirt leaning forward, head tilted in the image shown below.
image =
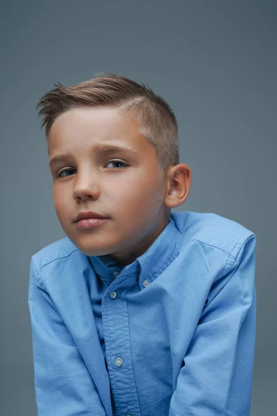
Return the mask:
<svg viewBox="0 0 277 416"><path fill-rule="evenodd" d="M38 415L249 415L256 236L171 212L192 174L170 106L107 74L37 108L66 234L30 261Z"/></svg>

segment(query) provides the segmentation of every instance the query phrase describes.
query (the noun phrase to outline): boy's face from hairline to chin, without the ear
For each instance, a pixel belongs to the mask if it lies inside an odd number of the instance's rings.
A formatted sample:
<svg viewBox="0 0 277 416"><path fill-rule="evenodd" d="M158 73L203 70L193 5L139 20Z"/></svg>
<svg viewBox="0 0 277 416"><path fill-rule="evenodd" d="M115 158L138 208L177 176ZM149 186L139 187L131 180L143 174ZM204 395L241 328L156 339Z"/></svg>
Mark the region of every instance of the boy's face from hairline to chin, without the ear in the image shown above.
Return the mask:
<svg viewBox="0 0 277 416"><path fill-rule="evenodd" d="M127 146L134 153L104 153L94 150L98 144ZM55 120L48 145L50 160L69 154L49 164L55 211L66 235L88 256L109 255L120 264L132 263L157 239L170 216L156 150L139 133L136 120L118 108L73 108ZM78 229L74 220L82 211L109 219Z"/></svg>

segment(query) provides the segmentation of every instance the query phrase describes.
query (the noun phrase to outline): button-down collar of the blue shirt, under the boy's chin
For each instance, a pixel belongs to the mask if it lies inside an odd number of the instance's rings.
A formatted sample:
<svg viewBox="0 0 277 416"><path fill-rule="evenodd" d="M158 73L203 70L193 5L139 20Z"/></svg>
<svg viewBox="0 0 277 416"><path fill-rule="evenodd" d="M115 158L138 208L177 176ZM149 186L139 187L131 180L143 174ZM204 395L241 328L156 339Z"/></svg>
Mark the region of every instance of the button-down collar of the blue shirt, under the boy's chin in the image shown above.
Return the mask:
<svg viewBox="0 0 277 416"><path fill-rule="evenodd" d="M166 227L157 239L141 256L127 266L120 265L108 255L89 256L93 269L106 284L116 279L117 275L135 275L143 287L146 280L151 283L177 257L181 248L182 234L175 225L172 214Z"/></svg>

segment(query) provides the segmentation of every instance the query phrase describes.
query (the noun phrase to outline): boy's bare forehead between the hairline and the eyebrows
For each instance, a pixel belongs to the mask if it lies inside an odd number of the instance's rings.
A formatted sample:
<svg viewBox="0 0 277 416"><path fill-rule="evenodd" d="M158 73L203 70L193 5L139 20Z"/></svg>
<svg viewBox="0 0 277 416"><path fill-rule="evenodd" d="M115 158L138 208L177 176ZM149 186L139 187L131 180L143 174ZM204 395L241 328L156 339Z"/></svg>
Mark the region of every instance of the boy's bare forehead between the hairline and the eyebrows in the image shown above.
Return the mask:
<svg viewBox="0 0 277 416"><path fill-rule="evenodd" d="M90 150L93 153L125 151L143 155L152 144L139 132L133 117L118 108L73 108L53 123L48 139L48 155Z"/></svg>

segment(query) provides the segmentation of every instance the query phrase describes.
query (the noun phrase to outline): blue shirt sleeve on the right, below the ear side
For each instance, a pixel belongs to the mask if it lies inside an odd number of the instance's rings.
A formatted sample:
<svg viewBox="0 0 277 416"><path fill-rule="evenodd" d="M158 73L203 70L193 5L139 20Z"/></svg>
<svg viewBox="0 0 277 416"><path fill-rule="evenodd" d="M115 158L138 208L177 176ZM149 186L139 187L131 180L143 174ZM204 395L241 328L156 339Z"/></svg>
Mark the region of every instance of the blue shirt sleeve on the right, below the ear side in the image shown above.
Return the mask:
<svg viewBox="0 0 277 416"><path fill-rule="evenodd" d="M249 416L256 338L256 236L242 244L204 306L169 416ZM224 281L224 284L222 282Z"/></svg>

